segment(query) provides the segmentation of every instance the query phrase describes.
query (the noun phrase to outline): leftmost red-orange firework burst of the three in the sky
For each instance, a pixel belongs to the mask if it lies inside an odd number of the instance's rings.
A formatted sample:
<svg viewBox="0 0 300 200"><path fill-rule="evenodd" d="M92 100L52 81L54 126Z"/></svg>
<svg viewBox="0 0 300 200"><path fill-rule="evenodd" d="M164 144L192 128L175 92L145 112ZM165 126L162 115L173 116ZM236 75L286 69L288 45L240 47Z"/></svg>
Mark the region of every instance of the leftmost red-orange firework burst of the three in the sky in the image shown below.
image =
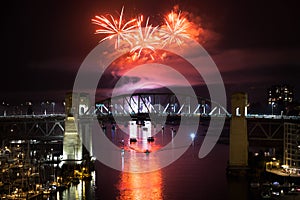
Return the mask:
<svg viewBox="0 0 300 200"><path fill-rule="evenodd" d="M115 41L115 48L120 47L121 40L125 40L129 43L130 33L133 29L137 27L136 19L132 19L128 22L123 21L123 11L124 7L121 10L119 20L115 20L112 15L108 15L109 18L104 16L95 16L95 19L92 19L92 23L100 26L99 29L95 31L96 34L108 34L105 38L103 38L100 42L112 39L113 37L117 37Z"/></svg>

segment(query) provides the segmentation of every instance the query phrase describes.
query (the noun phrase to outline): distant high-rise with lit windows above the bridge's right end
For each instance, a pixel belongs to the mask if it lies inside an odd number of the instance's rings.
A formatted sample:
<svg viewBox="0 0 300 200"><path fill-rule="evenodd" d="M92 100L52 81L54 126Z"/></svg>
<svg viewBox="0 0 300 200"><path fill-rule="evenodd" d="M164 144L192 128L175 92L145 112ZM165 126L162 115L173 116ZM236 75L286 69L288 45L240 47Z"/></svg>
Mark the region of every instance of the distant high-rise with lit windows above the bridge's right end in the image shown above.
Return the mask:
<svg viewBox="0 0 300 200"><path fill-rule="evenodd" d="M268 89L268 103L287 105L294 100L294 88L289 85L273 85Z"/></svg>

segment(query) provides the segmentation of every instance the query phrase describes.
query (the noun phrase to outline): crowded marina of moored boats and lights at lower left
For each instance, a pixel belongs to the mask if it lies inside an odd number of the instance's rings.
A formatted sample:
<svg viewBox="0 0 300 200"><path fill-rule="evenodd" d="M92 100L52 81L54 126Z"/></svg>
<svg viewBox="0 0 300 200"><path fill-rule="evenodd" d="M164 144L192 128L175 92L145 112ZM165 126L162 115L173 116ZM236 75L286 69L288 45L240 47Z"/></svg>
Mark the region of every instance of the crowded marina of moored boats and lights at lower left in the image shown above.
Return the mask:
<svg viewBox="0 0 300 200"><path fill-rule="evenodd" d="M28 148L30 141L22 142L12 141L9 147L0 151L1 199L49 199L93 180L92 161L83 160L81 165L60 167L60 156L54 156L52 148L44 154L46 157L38 157L34 155L37 150Z"/></svg>

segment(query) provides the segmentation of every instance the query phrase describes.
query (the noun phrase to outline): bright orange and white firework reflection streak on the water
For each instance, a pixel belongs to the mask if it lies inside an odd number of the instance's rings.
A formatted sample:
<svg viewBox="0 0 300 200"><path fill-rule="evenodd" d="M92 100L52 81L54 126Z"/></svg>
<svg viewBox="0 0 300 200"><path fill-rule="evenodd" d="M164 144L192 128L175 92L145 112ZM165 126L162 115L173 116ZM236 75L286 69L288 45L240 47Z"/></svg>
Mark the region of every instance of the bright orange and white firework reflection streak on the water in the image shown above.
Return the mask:
<svg viewBox="0 0 300 200"><path fill-rule="evenodd" d="M153 132L154 131L154 132ZM156 168L159 161L152 158L146 151L155 151L159 145L155 142L148 142L147 139L156 134L156 129L147 122L145 126L136 125L135 122L129 122L129 138L137 138L136 143L128 143L129 156L122 157L123 167L130 171L142 168L148 165L148 168ZM142 159L138 159L142 158ZM152 162L149 160L152 159ZM141 160L143 162L141 162ZM154 162L153 162L154 160ZM125 165L125 166L124 166ZM163 199L162 194L162 172L161 170L149 173L120 173L117 188L120 196L117 199Z"/></svg>

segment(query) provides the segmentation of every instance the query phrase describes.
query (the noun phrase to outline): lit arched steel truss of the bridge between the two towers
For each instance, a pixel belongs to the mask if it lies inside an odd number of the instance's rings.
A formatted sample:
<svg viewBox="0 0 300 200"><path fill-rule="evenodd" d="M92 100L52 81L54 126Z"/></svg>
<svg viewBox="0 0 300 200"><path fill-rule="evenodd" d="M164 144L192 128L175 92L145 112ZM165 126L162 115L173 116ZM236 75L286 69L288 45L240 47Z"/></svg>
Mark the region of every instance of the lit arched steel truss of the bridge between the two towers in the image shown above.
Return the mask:
<svg viewBox="0 0 300 200"><path fill-rule="evenodd" d="M97 103L92 110L96 115L137 115L140 113L158 115L204 115L230 116L220 104L198 97L191 103L192 97L174 94L133 94L121 95Z"/></svg>

